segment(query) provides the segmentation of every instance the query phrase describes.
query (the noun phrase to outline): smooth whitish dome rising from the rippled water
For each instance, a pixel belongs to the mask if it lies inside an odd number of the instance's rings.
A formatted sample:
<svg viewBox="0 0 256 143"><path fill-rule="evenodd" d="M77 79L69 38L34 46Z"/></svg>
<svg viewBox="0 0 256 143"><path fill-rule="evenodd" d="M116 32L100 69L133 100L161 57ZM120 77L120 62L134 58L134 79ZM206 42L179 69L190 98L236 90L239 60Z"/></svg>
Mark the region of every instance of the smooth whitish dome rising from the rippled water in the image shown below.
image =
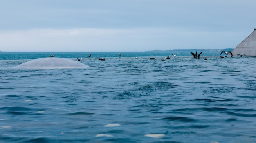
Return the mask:
<svg viewBox="0 0 256 143"><path fill-rule="evenodd" d="M20 69L81 69L87 67L89 66L67 58L38 58L16 66Z"/></svg>

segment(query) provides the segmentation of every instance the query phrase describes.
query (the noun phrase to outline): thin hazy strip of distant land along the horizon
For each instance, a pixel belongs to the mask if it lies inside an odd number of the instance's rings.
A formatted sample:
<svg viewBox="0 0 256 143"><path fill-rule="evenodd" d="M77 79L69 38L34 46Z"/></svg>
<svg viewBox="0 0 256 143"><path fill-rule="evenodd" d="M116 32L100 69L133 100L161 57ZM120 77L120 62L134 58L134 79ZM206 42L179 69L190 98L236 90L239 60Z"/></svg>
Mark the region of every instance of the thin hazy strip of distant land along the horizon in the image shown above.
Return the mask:
<svg viewBox="0 0 256 143"><path fill-rule="evenodd" d="M152 50L152 51L145 51L145 52L168 52L168 51L209 51L209 52L221 52L221 51L232 51L234 48L226 48L226 49L172 49L172 50Z"/></svg>

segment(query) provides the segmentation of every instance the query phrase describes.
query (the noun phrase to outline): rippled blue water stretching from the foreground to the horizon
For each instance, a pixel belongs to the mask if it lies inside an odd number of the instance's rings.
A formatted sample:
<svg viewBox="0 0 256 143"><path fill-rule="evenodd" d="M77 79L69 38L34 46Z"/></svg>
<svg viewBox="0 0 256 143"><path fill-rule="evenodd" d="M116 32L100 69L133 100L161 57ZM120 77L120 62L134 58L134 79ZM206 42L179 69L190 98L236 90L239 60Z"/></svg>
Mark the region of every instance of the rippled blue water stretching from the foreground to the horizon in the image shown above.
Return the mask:
<svg viewBox="0 0 256 143"><path fill-rule="evenodd" d="M15 68L51 54L90 67ZM0 143L256 142L255 57L118 54L0 52Z"/></svg>

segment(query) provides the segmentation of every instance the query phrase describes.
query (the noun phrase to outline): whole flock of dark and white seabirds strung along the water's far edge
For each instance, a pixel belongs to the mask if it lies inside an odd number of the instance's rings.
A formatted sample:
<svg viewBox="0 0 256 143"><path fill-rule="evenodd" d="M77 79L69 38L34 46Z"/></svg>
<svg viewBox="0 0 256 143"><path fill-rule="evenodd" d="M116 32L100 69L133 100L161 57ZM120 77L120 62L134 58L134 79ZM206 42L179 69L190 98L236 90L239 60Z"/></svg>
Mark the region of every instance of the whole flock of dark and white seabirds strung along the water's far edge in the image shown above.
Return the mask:
<svg viewBox="0 0 256 143"><path fill-rule="evenodd" d="M191 55L193 55L193 57L194 58L196 58L196 59L200 59L200 55L203 53L203 52L200 52L199 54L198 54L198 52L196 51L195 53L193 53L193 52L190 52L191 53ZM231 57L233 57L233 54L232 54L232 52L231 51L222 51L221 53L220 53L220 55L222 54L222 53L224 53L224 54L226 54L226 55L228 55L228 54L231 54ZM177 53L177 54L182 54L182 52L181 53ZM171 59L171 55L173 56L173 57L176 57L176 55L177 54L170 54L170 55L168 55L168 56L166 56L165 58L166 59ZM220 56L220 58L225 58L225 57L227 57L227 56ZM243 56L245 56L245 54L237 54L238 56L240 56L240 57L243 57ZM92 55L91 54L89 54L88 55L88 57L90 58ZM53 58L54 57L54 54L52 54L51 56L50 56L50 58ZM121 53L119 53L119 58L121 57ZM101 60L101 61L105 61L105 58L100 58L100 57L98 57L97 58L98 60ZM137 59L137 57L135 58L135 59ZM155 58L149 58L150 60L155 60ZM204 60L207 60L207 58L205 57L204 58ZM83 61L83 57L81 57L81 58L77 58L77 61ZM162 60L161 61L165 61L164 60L164 58L162 58Z"/></svg>

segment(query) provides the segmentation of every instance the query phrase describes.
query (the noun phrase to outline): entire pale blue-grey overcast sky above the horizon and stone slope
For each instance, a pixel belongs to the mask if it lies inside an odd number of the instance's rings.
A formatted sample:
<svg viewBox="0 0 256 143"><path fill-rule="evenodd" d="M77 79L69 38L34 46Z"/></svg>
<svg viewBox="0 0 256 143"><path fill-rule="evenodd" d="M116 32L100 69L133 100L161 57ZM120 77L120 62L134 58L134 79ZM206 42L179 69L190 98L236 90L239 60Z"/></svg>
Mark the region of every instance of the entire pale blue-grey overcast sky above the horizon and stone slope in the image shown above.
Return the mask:
<svg viewBox="0 0 256 143"><path fill-rule="evenodd" d="M256 0L0 0L1 51L235 48Z"/></svg>

